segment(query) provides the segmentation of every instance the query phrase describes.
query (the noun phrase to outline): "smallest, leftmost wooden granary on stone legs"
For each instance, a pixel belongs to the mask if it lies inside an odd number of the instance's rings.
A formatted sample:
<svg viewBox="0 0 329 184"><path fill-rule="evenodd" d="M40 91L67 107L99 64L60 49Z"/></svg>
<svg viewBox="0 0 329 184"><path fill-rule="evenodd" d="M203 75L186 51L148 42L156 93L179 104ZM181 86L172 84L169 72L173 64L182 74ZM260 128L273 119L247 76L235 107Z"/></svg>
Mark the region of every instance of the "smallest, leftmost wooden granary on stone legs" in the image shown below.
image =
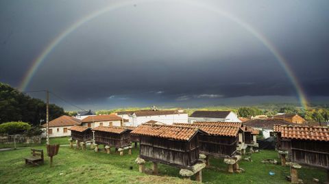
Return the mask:
<svg viewBox="0 0 329 184"><path fill-rule="evenodd" d="M73 148L74 140L77 142L77 148L80 148L80 144L82 145L82 149L86 148L86 142L93 144L92 129L76 125L71 127L69 130L71 130L71 148Z"/></svg>

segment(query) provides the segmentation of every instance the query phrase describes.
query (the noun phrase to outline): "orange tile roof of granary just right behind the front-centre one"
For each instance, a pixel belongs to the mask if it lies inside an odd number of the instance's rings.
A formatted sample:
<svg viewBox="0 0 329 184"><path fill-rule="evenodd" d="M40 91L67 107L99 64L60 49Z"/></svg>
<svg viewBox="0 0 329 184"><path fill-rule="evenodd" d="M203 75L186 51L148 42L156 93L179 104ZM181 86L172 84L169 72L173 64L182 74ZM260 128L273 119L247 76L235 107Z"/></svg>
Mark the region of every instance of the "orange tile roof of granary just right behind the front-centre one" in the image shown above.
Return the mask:
<svg viewBox="0 0 329 184"><path fill-rule="evenodd" d="M200 129L209 135L230 136L235 137L239 133L240 127L223 126L220 124L190 124L190 123L174 123L175 126L191 127Z"/></svg>

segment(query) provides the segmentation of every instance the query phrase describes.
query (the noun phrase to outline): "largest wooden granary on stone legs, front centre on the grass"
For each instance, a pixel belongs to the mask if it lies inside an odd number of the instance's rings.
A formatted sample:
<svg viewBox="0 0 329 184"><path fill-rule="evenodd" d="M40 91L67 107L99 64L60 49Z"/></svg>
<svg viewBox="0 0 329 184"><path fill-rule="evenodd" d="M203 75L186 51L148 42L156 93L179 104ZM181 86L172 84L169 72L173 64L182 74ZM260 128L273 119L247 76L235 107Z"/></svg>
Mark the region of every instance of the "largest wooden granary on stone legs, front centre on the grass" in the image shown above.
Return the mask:
<svg viewBox="0 0 329 184"><path fill-rule="evenodd" d="M140 137L140 155L136 163L143 172L145 161L152 161L153 171L158 173L158 163L181 168L182 176L196 174L202 180L202 169L205 163L199 163L198 135L204 134L197 128L174 125L141 124L133 135Z"/></svg>

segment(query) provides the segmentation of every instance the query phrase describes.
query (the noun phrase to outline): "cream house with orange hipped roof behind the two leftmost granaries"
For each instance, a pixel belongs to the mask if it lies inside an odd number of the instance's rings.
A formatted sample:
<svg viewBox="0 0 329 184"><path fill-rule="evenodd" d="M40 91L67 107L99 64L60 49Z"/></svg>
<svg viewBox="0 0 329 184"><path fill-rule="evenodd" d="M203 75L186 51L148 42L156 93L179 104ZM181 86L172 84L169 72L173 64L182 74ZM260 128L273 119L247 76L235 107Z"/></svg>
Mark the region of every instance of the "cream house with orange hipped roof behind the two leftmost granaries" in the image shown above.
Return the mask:
<svg viewBox="0 0 329 184"><path fill-rule="evenodd" d="M96 116L88 116L84 118L82 121L82 126L84 127L108 127L108 126L116 126L120 127L123 125L123 118L115 115L115 114L107 114L107 115L96 115Z"/></svg>

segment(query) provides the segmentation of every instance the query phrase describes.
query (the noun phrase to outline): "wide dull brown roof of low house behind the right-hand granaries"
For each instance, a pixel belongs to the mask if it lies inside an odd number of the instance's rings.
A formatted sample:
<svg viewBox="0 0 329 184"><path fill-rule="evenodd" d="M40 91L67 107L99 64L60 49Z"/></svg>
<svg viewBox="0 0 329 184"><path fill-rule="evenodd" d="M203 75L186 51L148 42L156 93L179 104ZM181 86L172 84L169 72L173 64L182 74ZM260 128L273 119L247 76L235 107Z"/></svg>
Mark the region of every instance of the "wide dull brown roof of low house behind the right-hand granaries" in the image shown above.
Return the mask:
<svg viewBox="0 0 329 184"><path fill-rule="evenodd" d="M261 129L273 129L274 124L290 125L290 122L277 119L256 119L243 122L243 125L247 127L261 128Z"/></svg>

